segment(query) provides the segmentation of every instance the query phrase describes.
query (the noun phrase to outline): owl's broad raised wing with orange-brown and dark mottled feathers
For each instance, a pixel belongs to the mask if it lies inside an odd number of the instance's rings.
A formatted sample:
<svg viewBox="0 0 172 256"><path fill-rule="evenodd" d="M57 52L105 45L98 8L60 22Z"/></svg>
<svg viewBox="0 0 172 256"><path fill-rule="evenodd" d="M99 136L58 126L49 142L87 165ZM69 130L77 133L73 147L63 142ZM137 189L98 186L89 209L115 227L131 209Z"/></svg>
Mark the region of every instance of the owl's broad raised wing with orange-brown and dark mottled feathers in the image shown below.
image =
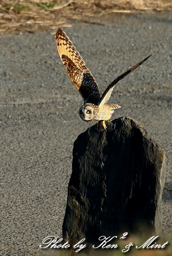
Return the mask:
<svg viewBox="0 0 172 256"><path fill-rule="evenodd" d="M91 72L85 66L81 55L76 51L76 48L66 36L65 32L63 32L62 28L58 27L55 39L62 63L72 83L80 92L84 103L98 104L101 95L97 83Z"/></svg>

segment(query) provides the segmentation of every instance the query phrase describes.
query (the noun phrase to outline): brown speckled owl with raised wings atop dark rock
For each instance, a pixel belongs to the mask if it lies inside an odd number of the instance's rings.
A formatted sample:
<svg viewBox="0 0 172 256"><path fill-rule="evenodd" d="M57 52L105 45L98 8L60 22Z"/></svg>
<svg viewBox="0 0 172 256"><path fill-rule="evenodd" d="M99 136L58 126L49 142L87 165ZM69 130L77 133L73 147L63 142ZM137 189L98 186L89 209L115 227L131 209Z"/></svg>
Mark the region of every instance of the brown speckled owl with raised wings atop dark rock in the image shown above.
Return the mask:
<svg viewBox="0 0 172 256"><path fill-rule="evenodd" d="M98 130L101 128L106 130L107 127L105 121L111 118L111 115L114 113L115 109L120 108L120 106L117 104L107 104L115 84L139 67L152 54L118 76L107 86L106 90L101 96L93 75L85 66L81 55L66 36L62 28L58 27L55 34L55 39L58 53L63 65L66 68L67 74L77 90L80 92L84 101L84 104L79 108L80 118L87 122L93 120L98 121Z"/></svg>

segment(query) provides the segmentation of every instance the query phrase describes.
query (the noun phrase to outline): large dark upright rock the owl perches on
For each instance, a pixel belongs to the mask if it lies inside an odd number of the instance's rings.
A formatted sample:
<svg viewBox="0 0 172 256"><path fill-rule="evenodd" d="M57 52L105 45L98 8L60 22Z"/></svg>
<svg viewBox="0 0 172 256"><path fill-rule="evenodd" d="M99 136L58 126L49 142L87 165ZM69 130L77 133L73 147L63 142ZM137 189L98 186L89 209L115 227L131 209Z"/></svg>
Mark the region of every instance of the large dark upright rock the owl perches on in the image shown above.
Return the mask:
<svg viewBox="0 0 172 256"><path fill-rule="evenodd" d="M165 153L135 120L122 117L78 136L63 222L63 239L162 230Z"/></svg>

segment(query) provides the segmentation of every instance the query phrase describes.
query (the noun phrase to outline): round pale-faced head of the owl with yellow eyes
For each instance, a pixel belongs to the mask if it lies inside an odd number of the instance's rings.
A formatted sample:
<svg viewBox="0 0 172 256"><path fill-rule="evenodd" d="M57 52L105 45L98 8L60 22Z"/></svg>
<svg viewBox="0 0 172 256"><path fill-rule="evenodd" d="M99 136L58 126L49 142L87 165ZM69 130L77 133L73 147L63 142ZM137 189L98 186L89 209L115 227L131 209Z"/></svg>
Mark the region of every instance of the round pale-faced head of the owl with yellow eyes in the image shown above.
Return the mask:
<svg viewBox="0 0 172 256"><path fill-rule="evenodd" d="M97 108L98 106L91 103L82 105L79 108L80 118L87 122L94 120L94 118L97 116Z"/></svg>

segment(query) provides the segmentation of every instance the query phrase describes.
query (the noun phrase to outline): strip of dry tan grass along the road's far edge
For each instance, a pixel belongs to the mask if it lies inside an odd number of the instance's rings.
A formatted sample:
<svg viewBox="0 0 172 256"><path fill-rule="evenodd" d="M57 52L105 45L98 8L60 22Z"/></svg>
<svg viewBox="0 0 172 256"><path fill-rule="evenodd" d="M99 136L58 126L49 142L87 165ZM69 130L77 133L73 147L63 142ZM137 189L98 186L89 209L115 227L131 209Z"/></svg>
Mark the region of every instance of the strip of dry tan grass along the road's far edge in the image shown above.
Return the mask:
<svg viewBox="0 0 172 256"><path fill-rule="evenodd" d="M109 13L172 10L171 0L1 0L0 34L55 29Z"/></svg>

